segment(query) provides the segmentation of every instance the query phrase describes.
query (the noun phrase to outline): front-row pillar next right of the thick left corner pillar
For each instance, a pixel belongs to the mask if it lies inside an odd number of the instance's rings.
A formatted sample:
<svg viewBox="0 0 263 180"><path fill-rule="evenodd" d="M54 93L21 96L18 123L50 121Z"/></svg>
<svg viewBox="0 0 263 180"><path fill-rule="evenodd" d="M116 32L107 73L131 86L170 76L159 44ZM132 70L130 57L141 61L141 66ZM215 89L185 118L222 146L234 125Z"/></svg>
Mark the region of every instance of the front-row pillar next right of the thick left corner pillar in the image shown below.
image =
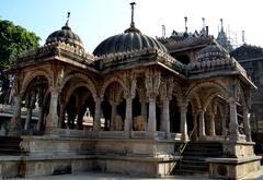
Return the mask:
<svg viewBox="0 0 263 180"><path fill-rule="evenodd" d="M99 131L101 131L101 103L102 98L95 98L95 116L93 121L93 134L95 136L99 135Z"/></svg>

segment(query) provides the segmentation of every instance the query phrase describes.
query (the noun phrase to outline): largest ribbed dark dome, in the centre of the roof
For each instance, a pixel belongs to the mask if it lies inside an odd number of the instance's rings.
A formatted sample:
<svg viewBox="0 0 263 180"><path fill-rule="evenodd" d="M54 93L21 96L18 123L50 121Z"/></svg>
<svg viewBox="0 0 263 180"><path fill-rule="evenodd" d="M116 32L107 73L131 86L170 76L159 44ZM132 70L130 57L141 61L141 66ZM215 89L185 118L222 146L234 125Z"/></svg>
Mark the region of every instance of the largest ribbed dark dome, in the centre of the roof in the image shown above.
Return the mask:
<svg viewBox="0 0 263 180"><path fill-rule="evenodd" d="M142 35L135 26L103 40L93 51L95 56L103 56L116 52L127 52L145 48L157 48L167 52L167 48L157 39Z"/></svg>

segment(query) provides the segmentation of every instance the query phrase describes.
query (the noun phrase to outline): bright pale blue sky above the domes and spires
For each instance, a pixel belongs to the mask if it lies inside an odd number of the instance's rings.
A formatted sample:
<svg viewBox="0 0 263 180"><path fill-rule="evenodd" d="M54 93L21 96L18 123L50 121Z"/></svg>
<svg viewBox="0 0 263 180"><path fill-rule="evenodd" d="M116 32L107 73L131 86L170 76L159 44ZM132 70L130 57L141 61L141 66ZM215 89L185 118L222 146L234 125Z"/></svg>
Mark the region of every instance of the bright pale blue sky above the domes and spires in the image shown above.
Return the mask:
<svg viewBox="0 0 263 180"><path fill-rule="evenodd" d="M184 31L184 16L188 17L188 29L202 27L206 19L210 34L217 36L219 19L224 19L226 31L241 44L241 32L245 31L248 44L263 47L262 0L134 0L135 24L144 34L167 36L172 29ZM45 43L47 36L60 29L70 11L69 26L77 33L88 52L105 38L123 33L130 23L132 0L0 0L0 17L12 21L34 32Z"/></svg>

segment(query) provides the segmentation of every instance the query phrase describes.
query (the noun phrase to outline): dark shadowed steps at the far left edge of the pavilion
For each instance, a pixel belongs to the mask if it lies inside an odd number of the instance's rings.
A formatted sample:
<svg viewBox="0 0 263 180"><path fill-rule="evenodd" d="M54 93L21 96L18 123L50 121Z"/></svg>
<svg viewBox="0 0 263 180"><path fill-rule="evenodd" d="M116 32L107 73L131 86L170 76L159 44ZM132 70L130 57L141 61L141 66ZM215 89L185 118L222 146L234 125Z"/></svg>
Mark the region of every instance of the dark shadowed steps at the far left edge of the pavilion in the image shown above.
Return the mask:
<svg viewBox="0 0 263 180"><path fill-rule="evenodd" d="M0 156L1 155L20 155L21 137L0 136Z"/></svg>

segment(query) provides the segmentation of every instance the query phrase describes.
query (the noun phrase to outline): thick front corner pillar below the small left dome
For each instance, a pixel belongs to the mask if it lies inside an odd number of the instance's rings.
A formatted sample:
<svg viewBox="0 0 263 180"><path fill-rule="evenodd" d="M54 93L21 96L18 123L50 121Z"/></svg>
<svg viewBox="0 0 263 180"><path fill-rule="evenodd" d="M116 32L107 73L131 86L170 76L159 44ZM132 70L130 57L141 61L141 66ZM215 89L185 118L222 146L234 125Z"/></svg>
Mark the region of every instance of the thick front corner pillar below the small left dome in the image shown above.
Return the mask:
<svg viewBox="0 0 263 180"><path fill-rule="evenodd" d="M50 105L49 105L49 113L46 117L46 129L45 134L56 134L58 128L58 94L59 88L53 87L50 88Z"/></svg>

